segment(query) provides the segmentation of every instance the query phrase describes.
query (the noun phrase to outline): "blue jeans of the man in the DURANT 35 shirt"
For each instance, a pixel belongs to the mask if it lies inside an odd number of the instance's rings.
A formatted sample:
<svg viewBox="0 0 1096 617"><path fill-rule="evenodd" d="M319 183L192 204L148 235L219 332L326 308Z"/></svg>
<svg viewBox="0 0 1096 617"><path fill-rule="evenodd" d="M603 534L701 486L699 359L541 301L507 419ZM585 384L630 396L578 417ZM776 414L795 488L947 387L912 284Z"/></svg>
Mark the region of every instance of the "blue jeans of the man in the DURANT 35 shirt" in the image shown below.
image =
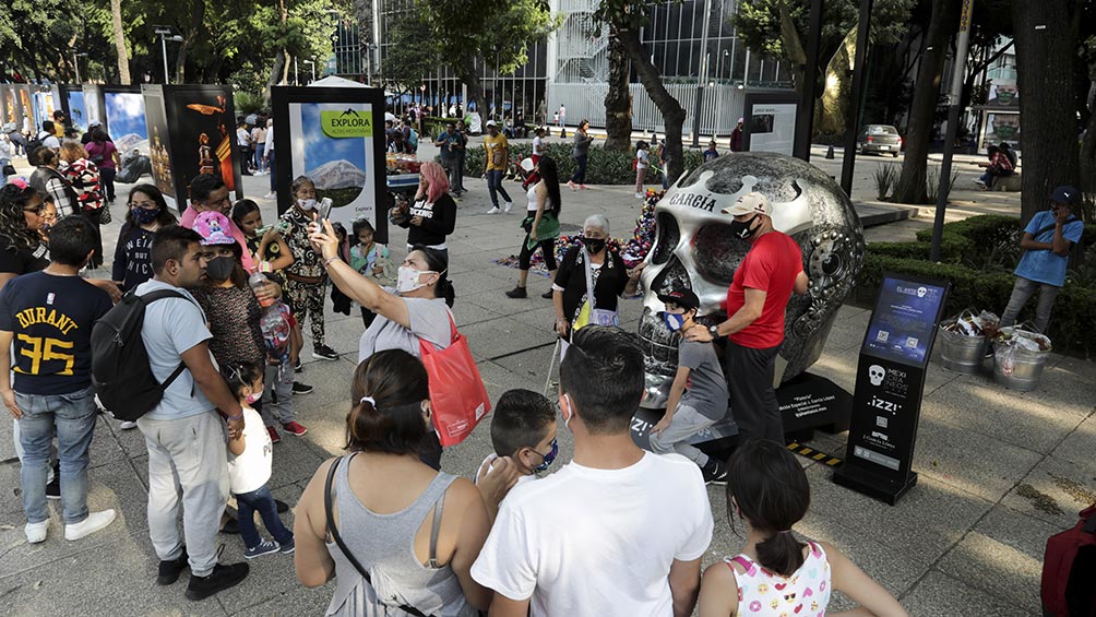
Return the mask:
<svg viewBox="0 0 1096 617"><path fill-rule="evenodd" d="M49 443L57 434L61 464L61 507L65 523L88 517L88 447L95 430L95 395L85 388L68 395L24 395L15 392L23 411L19 420L23 446L23 512L30 523L49 518L46 510L46 477L49 473Z"/></svg>

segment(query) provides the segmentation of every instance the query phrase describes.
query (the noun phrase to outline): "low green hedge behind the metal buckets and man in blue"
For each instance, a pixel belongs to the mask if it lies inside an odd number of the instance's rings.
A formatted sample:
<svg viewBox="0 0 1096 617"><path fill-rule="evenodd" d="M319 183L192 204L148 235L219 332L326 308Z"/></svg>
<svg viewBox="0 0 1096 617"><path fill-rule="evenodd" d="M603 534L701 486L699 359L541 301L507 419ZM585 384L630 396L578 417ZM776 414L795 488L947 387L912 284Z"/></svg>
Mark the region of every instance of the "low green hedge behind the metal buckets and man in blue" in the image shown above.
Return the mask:
<svg viewBox="0 0 1096 617"><path fill-rule="evenodd" d="M1008 304L1016 277L1012 274L1013 268L1002 267L1001 260L994 254L1012 252L1018 258L1021 231L1019 219L1007 216L983 215L948 222L944 226L939 263L928 261L932 229L918 231L916 242L869 243L853 300L870 306L882 274L894 272L950 282L951 292L944 311L947 316L964 308L992 310L1000 315ZM1096 225L1085 226L1082 243L1086 247L1096 243ZM1019 320L1030 319L1034 313L1032 298ZM1096 289L1068 277L1050 320L1048 334L1054 346L1059 350L1083 350L1086 355L1091 353L1096 347L1094 317Z"/></svg>

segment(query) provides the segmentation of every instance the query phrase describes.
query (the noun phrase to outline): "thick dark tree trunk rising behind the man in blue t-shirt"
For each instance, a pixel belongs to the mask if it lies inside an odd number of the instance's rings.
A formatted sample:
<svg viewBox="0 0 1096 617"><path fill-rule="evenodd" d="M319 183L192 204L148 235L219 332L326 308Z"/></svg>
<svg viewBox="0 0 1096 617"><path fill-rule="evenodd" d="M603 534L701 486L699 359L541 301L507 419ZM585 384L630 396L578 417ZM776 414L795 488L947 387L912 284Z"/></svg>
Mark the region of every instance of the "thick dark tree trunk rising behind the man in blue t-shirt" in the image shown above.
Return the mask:
<svg viewBox="0 0 1096 617"><path fill-rule="evenodd" d="M1020 219L1026 225L1055 186L1080 180L1073 61L1077 33L1070 0L1013 4L1016 72L1023 125ZM1038 30L1037 30L1038 28Z"/></svg>

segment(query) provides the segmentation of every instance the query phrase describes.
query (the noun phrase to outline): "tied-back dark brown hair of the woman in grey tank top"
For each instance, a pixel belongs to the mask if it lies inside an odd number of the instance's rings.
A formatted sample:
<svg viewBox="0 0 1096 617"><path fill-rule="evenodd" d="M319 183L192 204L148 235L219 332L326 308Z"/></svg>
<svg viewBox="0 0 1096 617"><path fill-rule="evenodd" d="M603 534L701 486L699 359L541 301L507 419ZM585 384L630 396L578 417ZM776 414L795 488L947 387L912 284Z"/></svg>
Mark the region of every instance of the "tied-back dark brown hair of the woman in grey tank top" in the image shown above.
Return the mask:
<svg viewBox="0 0 1096 617"><path fill-rule="evenodd" d="M426 437L426 369L403 350L377 352L354 369L346 449L414 454Z"/></svg>

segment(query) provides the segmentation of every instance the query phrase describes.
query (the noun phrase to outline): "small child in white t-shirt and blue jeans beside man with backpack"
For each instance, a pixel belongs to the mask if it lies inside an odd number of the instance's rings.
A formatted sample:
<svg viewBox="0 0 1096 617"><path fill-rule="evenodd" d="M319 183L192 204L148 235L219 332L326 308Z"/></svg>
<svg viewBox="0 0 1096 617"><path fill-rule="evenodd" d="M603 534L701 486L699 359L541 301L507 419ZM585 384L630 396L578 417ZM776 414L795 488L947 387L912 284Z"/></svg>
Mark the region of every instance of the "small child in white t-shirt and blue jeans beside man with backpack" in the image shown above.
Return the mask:
<svg viewBox="0 0 1096 617"><path fill-rule="evenodd" d="M221 367L221 375L243 408L243 432L228 441L228 485L236 496L240 537L246 547L243 557L254 559L274 552L290 553L295 546L293 532L278 518L277 504L266 487L274 445L262 416L251 407L263 397L263 367L240 363ZM264 540L259 535L256 511L273 540Z"/></svg>

